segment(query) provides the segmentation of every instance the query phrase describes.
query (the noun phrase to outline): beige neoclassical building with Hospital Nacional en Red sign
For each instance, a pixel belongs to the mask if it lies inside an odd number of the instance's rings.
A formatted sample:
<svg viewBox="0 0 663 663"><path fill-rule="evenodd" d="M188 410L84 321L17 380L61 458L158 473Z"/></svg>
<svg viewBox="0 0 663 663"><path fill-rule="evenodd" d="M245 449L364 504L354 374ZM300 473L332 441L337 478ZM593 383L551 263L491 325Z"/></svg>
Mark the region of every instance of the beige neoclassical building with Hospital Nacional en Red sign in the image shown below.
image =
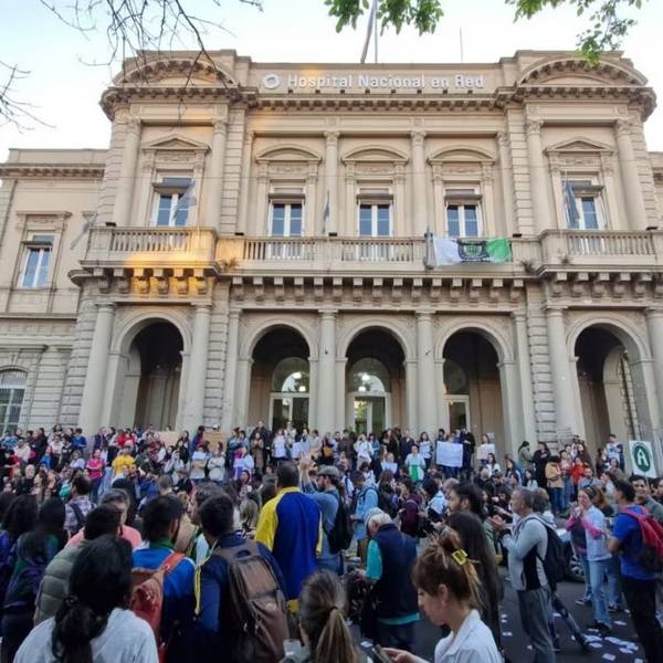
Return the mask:
<svg viewBox="0 0 663 663"><path fill-rule="evenodd" d="M629 60L211 57L127 61L107 150L0 165L0 429L660 439L663 154ZM513 259L431 266L427 232Z"/></svg>

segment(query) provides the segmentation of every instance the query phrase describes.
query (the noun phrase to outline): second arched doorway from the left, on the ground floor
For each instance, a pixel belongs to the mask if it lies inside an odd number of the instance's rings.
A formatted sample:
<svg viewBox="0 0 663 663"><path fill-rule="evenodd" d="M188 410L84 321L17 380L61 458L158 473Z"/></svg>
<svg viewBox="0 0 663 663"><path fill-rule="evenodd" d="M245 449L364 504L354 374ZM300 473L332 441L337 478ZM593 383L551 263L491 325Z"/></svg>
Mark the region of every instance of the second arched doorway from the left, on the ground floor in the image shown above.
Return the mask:
<svg viewBox="0 0 663 663"><path fill-rule="evenodd" d="M308 345L291 328L267 332L253 349L249 421L264 421L273 431L292 421L308 425L311 369Z"/></svg>

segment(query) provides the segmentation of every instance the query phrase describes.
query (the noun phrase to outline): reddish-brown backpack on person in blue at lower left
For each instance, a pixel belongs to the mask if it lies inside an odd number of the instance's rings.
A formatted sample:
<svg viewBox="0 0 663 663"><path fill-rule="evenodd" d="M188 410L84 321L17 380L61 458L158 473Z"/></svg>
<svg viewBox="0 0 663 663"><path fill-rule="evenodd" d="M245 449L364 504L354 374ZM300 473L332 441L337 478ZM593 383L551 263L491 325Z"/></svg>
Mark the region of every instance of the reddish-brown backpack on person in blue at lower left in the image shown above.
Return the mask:
<svg viewBox="0 0 663 663"><path fill-rule="evenodd" d="M143 567L131 569L129 609L150 625L157 640L159 660L165 659L167 648L167 643L159 634L164 608L164 580L183 558L181 552L171 552L156 569Z"/></svg>

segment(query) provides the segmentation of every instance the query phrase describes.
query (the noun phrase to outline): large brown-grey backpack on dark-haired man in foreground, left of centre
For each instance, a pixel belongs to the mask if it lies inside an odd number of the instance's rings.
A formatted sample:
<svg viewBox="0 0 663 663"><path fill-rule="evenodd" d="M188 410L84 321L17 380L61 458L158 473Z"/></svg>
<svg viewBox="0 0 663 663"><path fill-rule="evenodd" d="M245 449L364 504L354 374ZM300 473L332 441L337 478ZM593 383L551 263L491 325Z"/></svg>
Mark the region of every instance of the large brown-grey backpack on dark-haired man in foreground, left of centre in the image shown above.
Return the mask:
<svg viewBox="0 0 663 663"><path fill-rule="evenodd" d="M212 555L228 564L228 624L234 663L272 663L283 659L290 638L287 608L276 576L260 554L257 544L245 540L233 548L214 548Z"/></svg>

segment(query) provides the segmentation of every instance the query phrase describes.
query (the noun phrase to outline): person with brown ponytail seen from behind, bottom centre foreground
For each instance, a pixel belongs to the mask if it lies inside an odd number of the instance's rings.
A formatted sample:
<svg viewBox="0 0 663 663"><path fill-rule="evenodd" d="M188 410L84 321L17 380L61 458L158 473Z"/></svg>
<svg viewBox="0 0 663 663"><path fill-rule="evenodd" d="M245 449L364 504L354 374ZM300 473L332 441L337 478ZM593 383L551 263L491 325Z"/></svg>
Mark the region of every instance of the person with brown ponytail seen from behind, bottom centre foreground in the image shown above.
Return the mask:
<svg viewBox="0 0 663 663"><path fill-rule="evenodd" d="M286 641L282 663L365 661L346 624L346 592L336 573L322 570L308 576L299 596L299 633L304 646L288 646L291 641Z"/></svg>

